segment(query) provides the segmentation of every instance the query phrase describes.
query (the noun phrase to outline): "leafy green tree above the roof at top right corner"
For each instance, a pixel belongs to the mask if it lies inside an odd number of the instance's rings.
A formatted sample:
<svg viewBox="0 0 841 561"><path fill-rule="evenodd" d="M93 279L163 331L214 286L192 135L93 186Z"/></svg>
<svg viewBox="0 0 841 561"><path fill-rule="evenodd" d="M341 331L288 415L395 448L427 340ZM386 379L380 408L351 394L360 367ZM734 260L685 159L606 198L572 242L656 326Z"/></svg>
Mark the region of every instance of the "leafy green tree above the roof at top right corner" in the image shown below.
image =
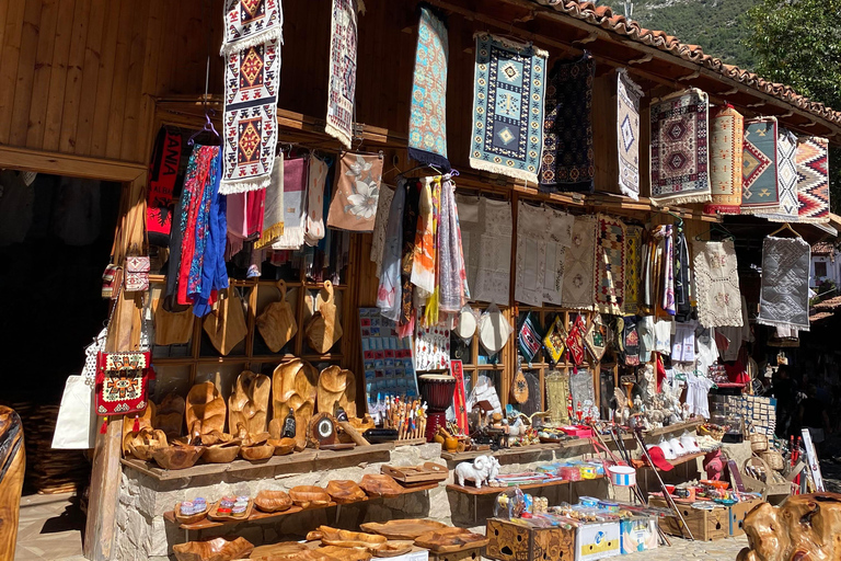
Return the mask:
<svg viewBox="0 0 841 561"><path fill-rule="evenodd" d="M757 73L841 111L841 0L762 0L746 42ZM832 210L841 208L841 149L830 148Z"/></svg>

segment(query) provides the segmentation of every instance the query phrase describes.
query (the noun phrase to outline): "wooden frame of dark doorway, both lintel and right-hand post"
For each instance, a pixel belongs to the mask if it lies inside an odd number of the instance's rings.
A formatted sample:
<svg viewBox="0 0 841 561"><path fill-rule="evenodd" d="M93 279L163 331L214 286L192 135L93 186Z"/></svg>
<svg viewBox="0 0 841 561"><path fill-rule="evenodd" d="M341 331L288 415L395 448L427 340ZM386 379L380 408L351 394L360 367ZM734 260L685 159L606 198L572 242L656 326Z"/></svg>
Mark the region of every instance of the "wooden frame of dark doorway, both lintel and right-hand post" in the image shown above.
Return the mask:
<svg viewBox="0 0 841 561"><path fill-rule="evenodd" d="M126 214L127 217L134 215L137 218L137 214L142 211L142 218L146 218L143 203L148 169L142 163L0 146L0 169L119 183L120 214ZM137 238L137 233L124 232L124 236L116 240L117 255L125 255L130 247L141 244L142 232L140 239ZM133 328L136 323L139 324L140 310L137 305L134 297L120 298L113 321L117 329L112 329L108 336L107 344L112 350L126 350L136 344L138 337ZM106 434L96 436L84 530L84 557L93 561L106 561L114 557L122 436L122 416L108 417Z"/></svg>

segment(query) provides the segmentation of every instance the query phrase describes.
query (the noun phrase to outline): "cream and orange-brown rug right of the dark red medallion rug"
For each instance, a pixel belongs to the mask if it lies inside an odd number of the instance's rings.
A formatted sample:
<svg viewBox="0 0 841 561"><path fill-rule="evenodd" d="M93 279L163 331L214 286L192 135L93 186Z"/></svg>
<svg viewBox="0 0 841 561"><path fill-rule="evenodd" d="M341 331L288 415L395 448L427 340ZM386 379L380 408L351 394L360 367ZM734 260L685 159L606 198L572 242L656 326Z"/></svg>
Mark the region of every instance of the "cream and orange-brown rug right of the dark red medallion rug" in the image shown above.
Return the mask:
<svg viewBox="0 0 841 561"><path fill-rule="evenodd" d="M741 151L745 117L731 105L710 117L710 188L713 202L704 213L738 215L741 205Z"/></svg>

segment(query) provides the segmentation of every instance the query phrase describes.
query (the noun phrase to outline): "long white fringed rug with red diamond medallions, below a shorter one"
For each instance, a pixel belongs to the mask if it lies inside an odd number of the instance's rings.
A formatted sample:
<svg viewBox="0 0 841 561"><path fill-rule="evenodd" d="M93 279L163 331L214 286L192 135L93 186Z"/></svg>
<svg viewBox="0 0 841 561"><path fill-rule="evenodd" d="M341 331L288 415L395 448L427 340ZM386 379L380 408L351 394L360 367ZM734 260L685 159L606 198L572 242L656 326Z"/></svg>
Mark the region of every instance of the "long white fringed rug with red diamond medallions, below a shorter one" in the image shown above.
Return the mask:
<svg viewBox="0 0 841 561"><path fill-rule="evenodd" d="M243 3L250 2L243 0ZM279 2L277 5L279 8ZM250 42L262 36L252 36ZM277 145L280 39L266 36L269 38L265 43L257 42L226 55L224 163L219 187L222 195L265 188L272 181Z"/></svg>

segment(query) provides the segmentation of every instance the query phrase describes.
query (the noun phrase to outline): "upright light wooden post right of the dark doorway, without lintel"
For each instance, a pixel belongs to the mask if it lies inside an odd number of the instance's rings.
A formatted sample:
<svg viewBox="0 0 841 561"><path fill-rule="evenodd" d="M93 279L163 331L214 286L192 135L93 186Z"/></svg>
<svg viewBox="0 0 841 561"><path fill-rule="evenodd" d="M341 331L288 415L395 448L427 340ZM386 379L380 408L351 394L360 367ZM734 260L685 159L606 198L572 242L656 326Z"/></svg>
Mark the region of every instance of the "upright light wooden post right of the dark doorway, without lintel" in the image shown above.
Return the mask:
<svg viewBox="0 0 841 561"><path fill-rule="evenodd" d="M120 219L116 232L114 263L122 265L126 254L139 254L143 247L146 225L146 173L124 184ZM122 293L108 325L107 351L133 351L139 347L142 301ZM116 514L119 503L120 445L123 416L108 417L107 431L96 437L91 472L91 496L84 528L84 557L91 561L114 559Z"/></svg>

